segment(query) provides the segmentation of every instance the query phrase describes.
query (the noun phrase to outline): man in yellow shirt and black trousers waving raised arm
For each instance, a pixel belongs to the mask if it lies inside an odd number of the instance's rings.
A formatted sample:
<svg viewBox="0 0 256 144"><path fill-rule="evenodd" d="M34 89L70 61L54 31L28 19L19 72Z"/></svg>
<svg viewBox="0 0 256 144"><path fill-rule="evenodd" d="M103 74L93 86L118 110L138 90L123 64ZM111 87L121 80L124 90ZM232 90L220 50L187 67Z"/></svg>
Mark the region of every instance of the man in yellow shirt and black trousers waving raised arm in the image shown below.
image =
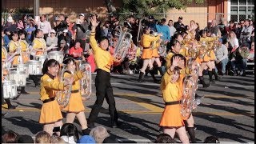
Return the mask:
<svg viewBox="0 0 256 144"><path fill-rule="evenodd" d="M102 107L104 98L106 98L109 104L111 126L117 127L121 123L118 122L118 112L115 107L113 89L110 83L110 68L115 61L121 62L122 59L114 61L114 58L112 58L110 52L107 51L107 48L109 47L108 38L100 38L98 41L99 45L97 44L95 39L95 29L99 22L97 22L95 16L90 18L90 22L92 26L90 33L90 46L94 52L95 63L97 66L97 75L95 78L97 99L88 118L88 127L94 127L94 122L96 121L96 118L98 118L98 113Z"/></svg>

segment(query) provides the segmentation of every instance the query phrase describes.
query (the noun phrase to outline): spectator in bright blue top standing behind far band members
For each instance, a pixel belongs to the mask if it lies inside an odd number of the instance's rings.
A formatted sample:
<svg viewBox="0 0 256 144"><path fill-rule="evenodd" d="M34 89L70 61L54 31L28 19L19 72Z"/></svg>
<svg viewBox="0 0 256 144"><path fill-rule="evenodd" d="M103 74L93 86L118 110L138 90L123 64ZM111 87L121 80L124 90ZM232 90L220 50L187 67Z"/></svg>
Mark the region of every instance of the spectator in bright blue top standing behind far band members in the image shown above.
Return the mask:
<svg viewBox="0 0 256 144"><path fill-rule="evenodd" d="M158 30L158 33L162 33L162 41L165 43L170 42L170 30L169 27L166 25L166 18L162 18L160 25L156 25L156 28Z"/></svg>

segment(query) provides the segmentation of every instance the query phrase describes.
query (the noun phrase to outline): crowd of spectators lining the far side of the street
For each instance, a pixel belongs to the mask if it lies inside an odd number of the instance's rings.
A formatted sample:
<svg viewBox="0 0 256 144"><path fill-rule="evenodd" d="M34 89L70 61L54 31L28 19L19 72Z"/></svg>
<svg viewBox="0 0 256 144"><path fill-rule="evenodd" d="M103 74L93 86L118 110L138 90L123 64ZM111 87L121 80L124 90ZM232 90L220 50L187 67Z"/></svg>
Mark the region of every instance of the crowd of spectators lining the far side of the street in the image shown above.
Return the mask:
<svg viewBox="0 0 256 144"><path fill-rule="evenodd" d="M90 17L94 15L98 17L97 14L90 14ZM130 15L126 18L125 22L120 23L118 15L110 14L109 18L106 18L105 21L100 22L100 25L98 25L95 38L98 39L101 36L109 38L111 54L114 54L114 48L118 42L116 34L119 25L130 29L130 34L133 36L129 54L127 54L123 62L112 68L112 72L134 74L139 71L142 65L140 59L142 48L139 46L139 42L137 42L137 37L140 38L141 36L138 35L139 22L139 18ZM167 23L166 18L158 21L151 15L148 18L144 18L141 22L142 26L150 26L150 29L154 30L154 32L162 33L161 38L166 43L174 38L174 34L179 33L182 34L183 38L186 38L188 32L192 30L195 31L195 39L197 40L200 39L200 31L202 30L206 31L208 37L219 36L222 38L222 50L226 51L227 49L228 54L227 58L225 56L221 60L216 59L216 64L219 66L218 74L246 75L246 63L254 62L254 22L250 19L241 20L240 22L227 22L226 19L221 18L219 23L216 19L209 20L207 26L203 29L194 20L191 20L189 25L183 24L182 16L178 18L177 22L170 19ZM53 25L46 20L46 15L44 14L42 14L38 21L34 18L26 18L26 16L15 21L10 15L6 21L2 19L2 39L4 40L6 50L9 51L8 43L11 40L11 33L22 31L26 36L28 44L32 45L34 30L41 29L47 46L58 46L57 50L63 51L65 58L73 57L75 59L87 60L94 67L94 55L90 53L90 27L85 14L79 14L76 22L70 22L68 16L59 14L54 17ZM164 61L164 58L162 58L162 66L165 63Z"/></svg>

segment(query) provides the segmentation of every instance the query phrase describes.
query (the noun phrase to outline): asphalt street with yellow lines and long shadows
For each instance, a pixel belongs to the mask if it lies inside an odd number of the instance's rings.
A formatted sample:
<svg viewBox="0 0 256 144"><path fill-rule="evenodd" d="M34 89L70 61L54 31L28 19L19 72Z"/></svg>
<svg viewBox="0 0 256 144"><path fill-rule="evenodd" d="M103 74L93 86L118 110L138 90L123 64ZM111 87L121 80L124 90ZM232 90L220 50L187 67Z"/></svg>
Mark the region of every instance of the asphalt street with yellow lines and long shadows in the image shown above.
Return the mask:
<svg viewBox="0 0 256 144"><path fill-rule="evenodd" d="M93 80L95 75L93 74ZM208 82L208 76L204 76ZM120 142L153 142L159 131L164 104L159 90L159 84L152 78L144 78L145 82L136 82L138 74L112 74L111 83L114 90L120 128L110 128L108 105L103 103L96 126L106 126L110 134L114 134ZM158 77L159 78L159 77ZM95 86L92 82L92 97L84 102L86 118L95 102ZM11 100L18 105L15 110L7 110L2 106L2 131L14 130L18 134L34 136L42 130L38 123L42 102L39 100L39 88L27 81L27 95L21 95L18 100ZM254 142L254 75L246 77L224 76L221 82L216 82L208 88L199 85L198 94L204 95L201 104L194 110L195 134L198 142L214 135L220 142ZM63 113L63 122L66 115ZM75 120L78 130L81 130L78 120Z"/></svg>

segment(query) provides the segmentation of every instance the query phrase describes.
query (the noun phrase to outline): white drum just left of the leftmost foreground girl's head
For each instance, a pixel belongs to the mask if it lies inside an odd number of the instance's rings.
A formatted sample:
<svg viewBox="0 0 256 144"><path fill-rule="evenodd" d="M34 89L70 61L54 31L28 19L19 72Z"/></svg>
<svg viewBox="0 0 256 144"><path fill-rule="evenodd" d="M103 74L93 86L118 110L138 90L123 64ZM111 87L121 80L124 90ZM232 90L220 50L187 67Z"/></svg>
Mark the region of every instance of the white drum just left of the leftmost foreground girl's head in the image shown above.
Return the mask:
<svg viewBox="0 0 256 144"><path fill-rule="evenodd" d="M29 65L29 74L30 75L42 74L42 64L40 61L30 60L26 63Z"/></svg>

